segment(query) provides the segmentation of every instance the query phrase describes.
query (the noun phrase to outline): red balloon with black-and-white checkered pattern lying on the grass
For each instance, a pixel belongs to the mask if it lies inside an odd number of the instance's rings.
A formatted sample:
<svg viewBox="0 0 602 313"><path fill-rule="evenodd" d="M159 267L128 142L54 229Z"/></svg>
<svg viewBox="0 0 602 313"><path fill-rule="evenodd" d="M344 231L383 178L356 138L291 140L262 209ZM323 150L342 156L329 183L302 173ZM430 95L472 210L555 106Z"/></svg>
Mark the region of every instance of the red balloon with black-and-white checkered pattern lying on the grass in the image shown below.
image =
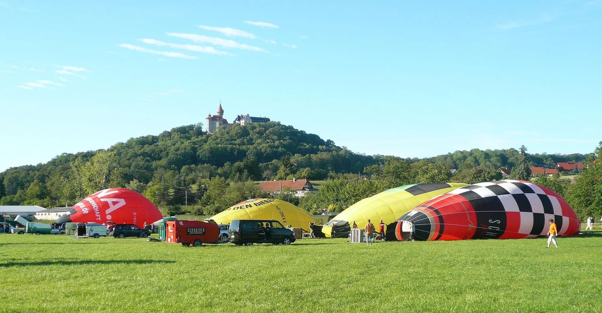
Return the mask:
<svg viewBox="0 0 602 313"><path fill-rule="evenodd" d="M396 237L408 240L529 238L547 234L553 219L559 235L577 234L579 218L562 197L527 181L482 182L434 197L398 219Z"/></svg>

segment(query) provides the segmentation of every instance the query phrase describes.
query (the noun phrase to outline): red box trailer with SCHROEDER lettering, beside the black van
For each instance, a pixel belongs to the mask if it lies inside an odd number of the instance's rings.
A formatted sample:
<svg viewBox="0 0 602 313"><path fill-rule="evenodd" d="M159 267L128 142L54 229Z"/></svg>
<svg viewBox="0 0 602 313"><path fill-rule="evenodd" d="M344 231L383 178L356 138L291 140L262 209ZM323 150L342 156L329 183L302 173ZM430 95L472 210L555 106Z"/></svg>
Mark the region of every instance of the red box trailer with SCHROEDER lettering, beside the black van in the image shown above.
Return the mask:
<svg viewBox="0 0 602 313"><path fill-rule="evenodd" d="M198 247L203 243L220 243L220 228L217 224L195 220L168 220L166 243L181 243L182 246Z"/></svg>

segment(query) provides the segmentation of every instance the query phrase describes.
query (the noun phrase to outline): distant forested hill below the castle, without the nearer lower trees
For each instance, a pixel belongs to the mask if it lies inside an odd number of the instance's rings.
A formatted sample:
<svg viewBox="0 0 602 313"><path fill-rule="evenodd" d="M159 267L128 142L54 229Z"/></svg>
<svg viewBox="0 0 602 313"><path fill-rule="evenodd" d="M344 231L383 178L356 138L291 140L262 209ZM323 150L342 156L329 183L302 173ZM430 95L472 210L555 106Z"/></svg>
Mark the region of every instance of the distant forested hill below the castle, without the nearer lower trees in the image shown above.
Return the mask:
<svg viewBox="0 0 602 313"><path fill-rule="evenodd" d="M447 169L512 167L515 149L456 151L423 160L368 156L336 146L331 140L278 122L220 128L209 135L202 124L180 126L159 135L131 138L107 150L63 153L45 164L13 167L0 173L0 205L60 206L108 187L144 191L161 186L163 193L182 185L219 177L225 182L271 179L335 178L342 173L372 175L373 165L388 160L403 164L436 163ZM530 155L535 166L553 167L584 156ZM371 167L374 169L374 167ZM414 174L406 181L414 182ZM417 174L416 174L417 175Z"/></svg>

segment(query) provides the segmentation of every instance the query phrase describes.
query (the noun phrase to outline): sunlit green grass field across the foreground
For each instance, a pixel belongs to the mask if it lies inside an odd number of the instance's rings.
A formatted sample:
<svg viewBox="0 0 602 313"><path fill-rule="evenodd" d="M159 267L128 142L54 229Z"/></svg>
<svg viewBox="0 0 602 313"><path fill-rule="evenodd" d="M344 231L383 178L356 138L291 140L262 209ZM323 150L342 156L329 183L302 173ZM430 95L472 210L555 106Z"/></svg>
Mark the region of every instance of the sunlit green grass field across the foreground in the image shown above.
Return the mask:
<svg viewBox="0 0 602 313"><path fill-rule="evenodd" d="M599 225L597 225L599 227ZM291 246L0 234L0 312L600 312L602 232Z"/></svg>

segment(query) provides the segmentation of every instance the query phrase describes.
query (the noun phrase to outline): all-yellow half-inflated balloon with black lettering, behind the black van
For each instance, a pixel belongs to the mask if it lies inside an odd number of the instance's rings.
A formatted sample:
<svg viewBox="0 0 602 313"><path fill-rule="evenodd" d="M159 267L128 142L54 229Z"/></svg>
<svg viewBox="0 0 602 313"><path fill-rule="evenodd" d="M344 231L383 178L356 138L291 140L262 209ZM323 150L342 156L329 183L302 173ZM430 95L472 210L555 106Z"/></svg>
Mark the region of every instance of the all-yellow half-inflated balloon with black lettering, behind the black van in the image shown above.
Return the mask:
<svg viewBox="0 0 602 313"><path fill-rule="evenodd" d="M309 230L310 222L318 222L303 209L278 199L249 199L211 218L218 224L229 224L232 220L277 220L284 226L291 225L306 231Z"/></svg>

